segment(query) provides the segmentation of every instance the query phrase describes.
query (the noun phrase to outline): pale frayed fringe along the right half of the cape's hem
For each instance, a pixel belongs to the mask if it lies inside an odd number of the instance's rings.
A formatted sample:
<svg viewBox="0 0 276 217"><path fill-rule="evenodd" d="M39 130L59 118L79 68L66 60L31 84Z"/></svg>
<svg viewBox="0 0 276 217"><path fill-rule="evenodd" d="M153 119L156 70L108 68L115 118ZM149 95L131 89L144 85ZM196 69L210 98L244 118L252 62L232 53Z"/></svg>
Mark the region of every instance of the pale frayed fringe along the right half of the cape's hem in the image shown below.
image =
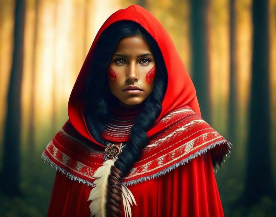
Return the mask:
<svg viewBox="0 0 276 217"><path fill-rule="evenodd" d="M216 165L213 166L215 173L217 173L217 170L219 170L219 168L223 165L223 163L226 161L226 159L229 158L229 156L231 154L231 148L233 147L233 145L225 139L221 140L219 142L214 142L214 143L206 146L205 148L199 150L195 154L190 155L188 158L185 158L182 161L177 162L176 164L174 164L172 166L169 166L168 168L166 168L164 170L161 170L160 172L158 172L156 174L152 174L152 175L149 175L149 176L141 177L141 178L138 178L138 179L135 179L135 180L132 180L132 181L128 181L128 182L123 182L123 183L125 184L125 186L129 186L129 185L132 186L132 185L135 185L139 182L147 181L147 180L152 179L152 178L157 178L158 176L164 175L165 173L177 168L178 166L184 165L185 163L187 163L187 162L191 161L192 159L196 158L198 155L206 154L208 149L214 148L216 145L223 145L223 144L225 144L226 148L227 148L224 156L222 157L223 160L222 160L222 162L216 162Z"/></svg>

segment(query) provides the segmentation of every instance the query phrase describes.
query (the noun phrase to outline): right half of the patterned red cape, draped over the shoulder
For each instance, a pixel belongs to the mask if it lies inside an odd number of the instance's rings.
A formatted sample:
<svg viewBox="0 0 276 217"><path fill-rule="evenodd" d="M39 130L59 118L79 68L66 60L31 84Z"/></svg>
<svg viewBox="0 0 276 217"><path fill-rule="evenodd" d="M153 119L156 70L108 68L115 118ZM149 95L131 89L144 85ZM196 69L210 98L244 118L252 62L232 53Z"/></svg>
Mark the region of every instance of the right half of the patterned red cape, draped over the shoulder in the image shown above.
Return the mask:
<svg viewBox="0 0 276 217"><path fill-rule="evenodd" d="M156 178L210 152L217 170L230 155L229 141L222 137L189 106L179 108L158 122L162 130L150 138L140 159L133 165L124 182L138 183Z"/></svg>

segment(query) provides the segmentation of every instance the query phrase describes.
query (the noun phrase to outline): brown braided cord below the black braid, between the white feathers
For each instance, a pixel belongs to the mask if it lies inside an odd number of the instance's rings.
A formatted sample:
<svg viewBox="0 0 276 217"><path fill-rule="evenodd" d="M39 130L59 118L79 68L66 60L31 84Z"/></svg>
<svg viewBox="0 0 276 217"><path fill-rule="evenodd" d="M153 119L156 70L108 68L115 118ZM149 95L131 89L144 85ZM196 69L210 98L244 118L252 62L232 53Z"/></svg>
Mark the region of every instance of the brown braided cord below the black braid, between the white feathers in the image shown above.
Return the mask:
<svg viewBox="0 0 276 217"><path fill-rule="evenodd" d="M122 172L115 166L111 166L108 176L107 214L108 217L122 217Z"/></svg>

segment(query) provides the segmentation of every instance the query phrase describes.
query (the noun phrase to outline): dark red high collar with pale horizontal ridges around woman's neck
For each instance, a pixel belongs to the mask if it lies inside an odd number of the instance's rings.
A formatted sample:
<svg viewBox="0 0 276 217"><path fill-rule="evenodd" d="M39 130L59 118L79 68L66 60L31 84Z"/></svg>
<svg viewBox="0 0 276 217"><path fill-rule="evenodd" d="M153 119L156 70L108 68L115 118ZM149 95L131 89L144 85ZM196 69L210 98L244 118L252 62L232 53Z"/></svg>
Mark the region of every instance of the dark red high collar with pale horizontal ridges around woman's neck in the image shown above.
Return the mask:
<svg viewBox="0 0 276 217"><path fill-rule="evenodd" d="M135 118L142 112L143 103L134 108L122 105L114 106L107 119L107 124L100 136L110 142L126 142Z"/></svg>

